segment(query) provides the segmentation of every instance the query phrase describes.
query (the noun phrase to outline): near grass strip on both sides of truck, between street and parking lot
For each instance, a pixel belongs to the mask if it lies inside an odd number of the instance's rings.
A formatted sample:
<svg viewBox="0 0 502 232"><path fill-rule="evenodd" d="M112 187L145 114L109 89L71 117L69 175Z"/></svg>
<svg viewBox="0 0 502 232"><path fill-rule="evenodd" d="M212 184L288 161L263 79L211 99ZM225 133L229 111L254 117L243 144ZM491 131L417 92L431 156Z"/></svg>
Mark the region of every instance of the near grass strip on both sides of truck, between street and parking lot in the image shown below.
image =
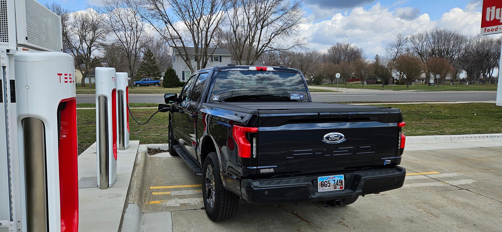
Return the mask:
<svg viewBox="0 0 502 232"><path fill-rule="evenodd" d="M370 104L370 103L369 103ZM502 107L493 103L461 104L381 104L400 108L407 136L464 135L502 133ZM79 105L79 107L81 107ZM131 109L140 122L145 122L157 109ZM146 125L130 118L130 139L142 144L167 143L168 113L159 112ZM78 153L96 142L96 111L77 110Z"/></svg>

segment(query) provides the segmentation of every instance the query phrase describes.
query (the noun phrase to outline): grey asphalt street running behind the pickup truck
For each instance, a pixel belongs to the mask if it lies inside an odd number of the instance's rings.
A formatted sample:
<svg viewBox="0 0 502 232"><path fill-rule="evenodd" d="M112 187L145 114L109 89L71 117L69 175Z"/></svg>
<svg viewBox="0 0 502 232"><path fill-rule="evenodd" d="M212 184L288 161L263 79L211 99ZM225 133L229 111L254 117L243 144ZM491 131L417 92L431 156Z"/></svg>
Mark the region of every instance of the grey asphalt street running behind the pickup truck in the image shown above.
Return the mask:
<svg viewBox="0 0 502 232"><path fill-rule="evenodd" d="M496 91L391 91L340 88L343 92L312 93L313 101L488 101L495 100ZM164 103L164 94L129 94L131 103ZM94 103L94 94L77 94L77 103Z"/></svg>

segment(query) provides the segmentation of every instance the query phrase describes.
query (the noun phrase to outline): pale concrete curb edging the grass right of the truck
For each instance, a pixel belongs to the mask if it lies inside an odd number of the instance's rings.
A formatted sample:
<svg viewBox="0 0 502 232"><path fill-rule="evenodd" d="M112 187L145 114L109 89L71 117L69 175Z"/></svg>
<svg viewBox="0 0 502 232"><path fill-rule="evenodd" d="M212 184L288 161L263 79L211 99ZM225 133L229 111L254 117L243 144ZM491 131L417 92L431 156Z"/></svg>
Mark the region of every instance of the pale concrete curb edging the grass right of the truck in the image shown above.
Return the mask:
<svg viewBox="0 0 502 232"><path fill-rule="evenodd" d="M474 134L474 135L436 135L436 136L407 136L407 144L423 143L447 143L447 142L476 142L476 141L500 141L501 134Z"/></svg>

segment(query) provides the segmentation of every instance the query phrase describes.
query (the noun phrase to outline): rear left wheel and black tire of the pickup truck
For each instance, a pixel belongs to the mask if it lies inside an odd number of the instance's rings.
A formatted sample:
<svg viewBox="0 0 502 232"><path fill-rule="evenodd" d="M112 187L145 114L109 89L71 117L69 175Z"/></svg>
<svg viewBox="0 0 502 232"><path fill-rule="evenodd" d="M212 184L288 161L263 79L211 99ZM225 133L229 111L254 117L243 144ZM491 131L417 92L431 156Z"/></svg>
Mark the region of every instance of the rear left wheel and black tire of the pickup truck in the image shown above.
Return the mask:
<svg viewBox="0 0 502 232"><path fill-rule="evenodd" d="M239 196L226 190L221 183L218 155L207 155L202 168L202 196L209 219L228 220L237 212Z"/></svg>

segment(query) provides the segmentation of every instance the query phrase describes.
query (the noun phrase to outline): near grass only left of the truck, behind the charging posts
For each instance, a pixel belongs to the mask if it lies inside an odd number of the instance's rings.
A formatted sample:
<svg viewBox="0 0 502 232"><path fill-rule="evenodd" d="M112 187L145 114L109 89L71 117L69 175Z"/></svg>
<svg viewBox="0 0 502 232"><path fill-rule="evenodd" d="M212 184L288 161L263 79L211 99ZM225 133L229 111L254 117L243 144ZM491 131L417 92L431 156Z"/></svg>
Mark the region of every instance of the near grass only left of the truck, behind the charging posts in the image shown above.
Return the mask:
<svg viewBox="0 0 502 232"><path fill-rule="evenodd" d="M131 109L139 122L146 122L157 109ZM167 143L169 114L158 112L146 125L139 125L129 118L130 140L139 140L142 144ZM96 110L77 109L78 154L96 142Z"/></svg>

